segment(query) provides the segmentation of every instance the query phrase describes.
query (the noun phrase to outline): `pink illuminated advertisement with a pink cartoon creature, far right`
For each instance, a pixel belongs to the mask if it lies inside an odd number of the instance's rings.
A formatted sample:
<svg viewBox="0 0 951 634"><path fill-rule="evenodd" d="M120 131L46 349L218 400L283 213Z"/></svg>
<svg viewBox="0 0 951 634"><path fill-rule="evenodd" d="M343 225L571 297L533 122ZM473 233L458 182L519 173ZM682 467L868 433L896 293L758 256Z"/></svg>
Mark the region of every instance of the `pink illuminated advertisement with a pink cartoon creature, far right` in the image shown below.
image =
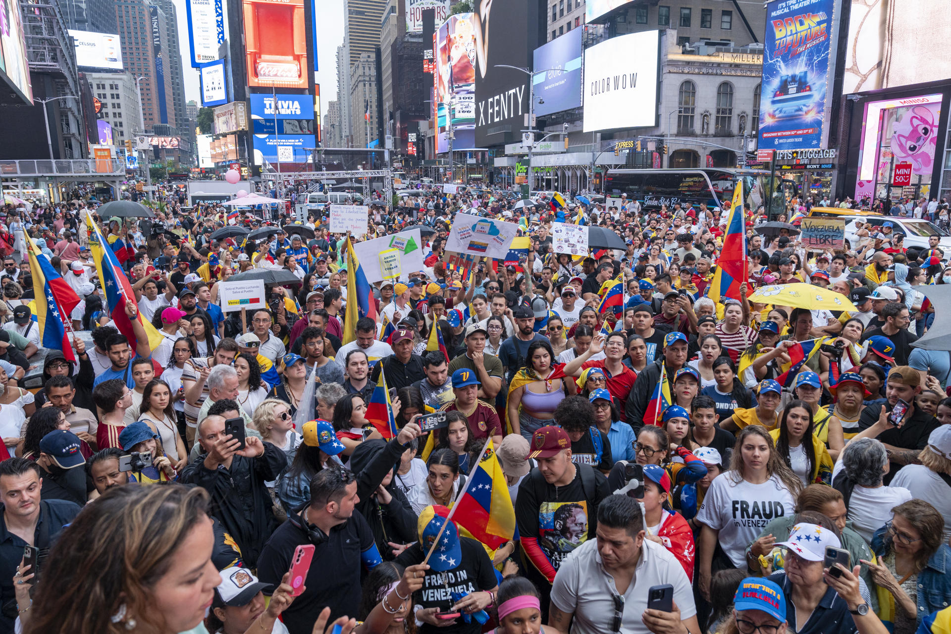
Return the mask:
<svg viewBox="0 0 951 634"><path fill-rule="evenodd" d="M902 186L918 185L921 189L914 195L927 198L935 169L940 115L940 94L865 104L855 183L857 201L884 198L889 185L895 196L905 195Z"/></svg>

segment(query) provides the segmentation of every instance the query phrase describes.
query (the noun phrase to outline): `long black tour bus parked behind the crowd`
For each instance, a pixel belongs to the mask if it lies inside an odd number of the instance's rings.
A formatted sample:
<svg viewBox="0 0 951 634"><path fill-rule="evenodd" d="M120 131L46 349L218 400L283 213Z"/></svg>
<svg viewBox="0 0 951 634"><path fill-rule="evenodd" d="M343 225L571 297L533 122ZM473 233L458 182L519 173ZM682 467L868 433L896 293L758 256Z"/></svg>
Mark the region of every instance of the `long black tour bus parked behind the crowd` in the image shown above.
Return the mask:
<svg viewBox="0 0 951 634"><path fill-rule="evenodd" d="M638 201L645 209L660 209L680 202L690 202L694 207L706 202L710 208L721 207L733 198L733 189L739 179L743 180L745 203L756 210L767 205L770 191L770 174L763 169L740 169L728 167L696 167L667 169L611 169L605 177L604 194L609 199L619 199L627 194L629 201ZM773 208L784 209L786 201L798 194L791 181L779 175L773 181Z"/></svg>

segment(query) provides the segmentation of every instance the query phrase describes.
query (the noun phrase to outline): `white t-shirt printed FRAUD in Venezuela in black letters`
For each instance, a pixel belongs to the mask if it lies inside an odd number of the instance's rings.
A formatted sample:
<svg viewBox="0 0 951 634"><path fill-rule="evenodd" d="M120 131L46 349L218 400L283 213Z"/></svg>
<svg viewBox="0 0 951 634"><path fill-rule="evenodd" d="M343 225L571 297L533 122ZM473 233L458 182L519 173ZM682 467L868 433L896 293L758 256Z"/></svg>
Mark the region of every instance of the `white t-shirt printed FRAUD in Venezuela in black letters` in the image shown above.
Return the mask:
<svg viewBox="0 0 951 634"><path fill-rule="evenodd" d="M792 515L796 499L775 475L761 485L746 480L737 483L735 477L727 471L714 478L697 512L697 521L720 531L720 546L733 566L743 568L747 565L747 546L774 519Z"/></svg>

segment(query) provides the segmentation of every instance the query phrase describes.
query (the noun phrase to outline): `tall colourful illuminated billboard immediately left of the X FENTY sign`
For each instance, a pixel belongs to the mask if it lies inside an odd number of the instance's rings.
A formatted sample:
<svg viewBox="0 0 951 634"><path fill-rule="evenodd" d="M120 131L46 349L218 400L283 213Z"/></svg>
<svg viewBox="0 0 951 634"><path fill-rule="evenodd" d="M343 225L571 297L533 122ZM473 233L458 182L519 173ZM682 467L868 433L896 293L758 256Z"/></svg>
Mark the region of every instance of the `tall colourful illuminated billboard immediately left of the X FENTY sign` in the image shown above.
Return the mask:
<svg viewBox="0 0 951 634"><path fill-rule="evenodd" d="M449 151L449 117L453 149L476 147L476 32L473 13L458 13L436 33L436 84L438 153Z"/></svg>

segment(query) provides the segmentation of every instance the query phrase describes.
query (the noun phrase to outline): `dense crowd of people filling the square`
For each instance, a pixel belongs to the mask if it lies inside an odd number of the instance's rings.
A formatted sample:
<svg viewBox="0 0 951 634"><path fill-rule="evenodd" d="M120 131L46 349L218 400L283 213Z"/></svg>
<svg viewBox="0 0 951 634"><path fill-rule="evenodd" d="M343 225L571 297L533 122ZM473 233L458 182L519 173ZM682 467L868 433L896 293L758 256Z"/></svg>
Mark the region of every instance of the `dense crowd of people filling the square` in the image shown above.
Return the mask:
<svg viewBox="0 0 951 634"><path fill-rule="evenodd" d="M947 631L951 355L911 345L936 327L928 285L951 283L939 237L905 249L885 222L809 251L746 209L749 278L714 300L727 210L516 200L374 200L364 238L419 226L424 267L370 280L377 317L356 319L326 212L9 208L0 632ZM458 211L531 246L460 270ZM87 214L134 294L118 309ZM556 253L559 221L625 248ZM223 237L236 222L259 239ZM26 240L82 299L76 362L42 351L36 391ZM249 269L297 281L223 311L221 282ZM750 301L796 282L857 310ZM486 522L513 509L512 534L478 541L451 517L465 495Z"/></svg>

